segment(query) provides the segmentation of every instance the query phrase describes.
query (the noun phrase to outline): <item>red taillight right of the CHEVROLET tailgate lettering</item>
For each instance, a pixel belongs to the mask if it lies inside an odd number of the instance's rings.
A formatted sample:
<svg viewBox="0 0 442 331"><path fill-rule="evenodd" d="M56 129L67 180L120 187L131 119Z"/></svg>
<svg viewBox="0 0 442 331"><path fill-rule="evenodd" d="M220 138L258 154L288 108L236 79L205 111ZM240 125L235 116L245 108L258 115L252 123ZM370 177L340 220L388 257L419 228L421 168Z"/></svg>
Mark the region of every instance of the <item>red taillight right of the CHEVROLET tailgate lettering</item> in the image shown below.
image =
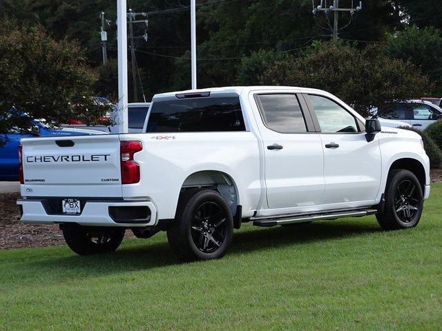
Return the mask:
<svg viewBox="0 0 442 331"><path fill-rule="evenodd" d="M133 154L140 152L143 145L140 141L122 141L119 147L122 168L122 183L135 184L140 181L140 165L133 161Z"/></svg>

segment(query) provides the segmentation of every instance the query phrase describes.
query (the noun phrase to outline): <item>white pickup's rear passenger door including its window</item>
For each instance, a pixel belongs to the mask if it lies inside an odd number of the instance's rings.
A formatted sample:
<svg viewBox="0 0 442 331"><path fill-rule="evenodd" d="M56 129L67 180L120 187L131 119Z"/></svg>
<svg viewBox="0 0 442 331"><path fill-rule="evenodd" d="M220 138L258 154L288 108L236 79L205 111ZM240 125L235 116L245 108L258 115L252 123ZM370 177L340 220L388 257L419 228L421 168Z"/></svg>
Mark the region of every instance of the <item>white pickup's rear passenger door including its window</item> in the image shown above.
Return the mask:
<svg viewBox="0 0 442 331"><path fill-rule="evenodd" d="M255 94L255 99L269 208L318 205L324 193L324 152L302 95Z"/></svg>

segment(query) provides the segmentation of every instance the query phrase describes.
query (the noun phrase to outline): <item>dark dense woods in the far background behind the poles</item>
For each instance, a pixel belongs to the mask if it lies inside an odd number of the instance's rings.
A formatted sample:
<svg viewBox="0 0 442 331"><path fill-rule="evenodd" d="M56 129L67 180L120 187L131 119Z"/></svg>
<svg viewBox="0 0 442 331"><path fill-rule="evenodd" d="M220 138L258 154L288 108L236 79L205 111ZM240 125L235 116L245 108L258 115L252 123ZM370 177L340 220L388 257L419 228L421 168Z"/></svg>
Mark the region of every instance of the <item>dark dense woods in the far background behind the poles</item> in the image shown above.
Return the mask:
<svg viewBox="0 0 442 331"><path fill-rule="evenodd" d="M128 8L149 12L147 42L136 45L137 62L148 97L158 92L190 88L189 0L128 0ZM316 1L318 3L318 1ZM386 32L401 30L394 1L365 1L352 24L340 32L344 39L362 40L363 48L382 41ZM350 0L340 0L350 6ZM56 39L78 39L91 66L100 66L99 12L112 21L108 57L116 58L114 0L3 0L0 12L20 23L41 23ZM403 5L401 4L401 12ZM330 32L323 17L311 14L311 0L198 0L198 86L233 85L244 58L265 50L294 56L314 40L326 41ZM348 15L340 17L344 25ZM318 23L320 26L318 26ZM144 33L138 26L135 34ZM108 89L112 90L109 86ZM141 90L140 87L138 90ZM129 93L132 97L132 93Z"/></svg>

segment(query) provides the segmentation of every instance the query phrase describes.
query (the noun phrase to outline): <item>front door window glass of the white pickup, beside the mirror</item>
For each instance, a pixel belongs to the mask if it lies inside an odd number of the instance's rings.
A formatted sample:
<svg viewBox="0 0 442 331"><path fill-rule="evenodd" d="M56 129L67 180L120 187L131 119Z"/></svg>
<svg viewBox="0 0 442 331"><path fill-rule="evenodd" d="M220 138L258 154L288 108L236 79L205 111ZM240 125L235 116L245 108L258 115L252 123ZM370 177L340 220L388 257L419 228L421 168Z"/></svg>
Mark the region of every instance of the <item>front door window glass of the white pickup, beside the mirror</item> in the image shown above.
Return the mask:
<svg viewBox="0 0 442 331"><path fill-rule="evenodd" d="M309 99L322 132L358 132L356 119L338 103L318 95L309 95Z"/></svg>

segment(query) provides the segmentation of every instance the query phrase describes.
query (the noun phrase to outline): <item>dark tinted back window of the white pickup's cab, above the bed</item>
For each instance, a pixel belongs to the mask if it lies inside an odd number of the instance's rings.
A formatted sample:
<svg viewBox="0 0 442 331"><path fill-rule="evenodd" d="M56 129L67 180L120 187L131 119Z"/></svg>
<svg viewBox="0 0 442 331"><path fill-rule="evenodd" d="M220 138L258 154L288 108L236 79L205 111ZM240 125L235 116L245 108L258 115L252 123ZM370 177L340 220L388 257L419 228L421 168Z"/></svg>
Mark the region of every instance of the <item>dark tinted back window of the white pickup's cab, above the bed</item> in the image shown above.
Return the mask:
<svg viewBox="0 0 442 331"><path fill-rule="evenodd" d="M177 99L153 103L146 132L245 131L239 97Z"/></svg>

